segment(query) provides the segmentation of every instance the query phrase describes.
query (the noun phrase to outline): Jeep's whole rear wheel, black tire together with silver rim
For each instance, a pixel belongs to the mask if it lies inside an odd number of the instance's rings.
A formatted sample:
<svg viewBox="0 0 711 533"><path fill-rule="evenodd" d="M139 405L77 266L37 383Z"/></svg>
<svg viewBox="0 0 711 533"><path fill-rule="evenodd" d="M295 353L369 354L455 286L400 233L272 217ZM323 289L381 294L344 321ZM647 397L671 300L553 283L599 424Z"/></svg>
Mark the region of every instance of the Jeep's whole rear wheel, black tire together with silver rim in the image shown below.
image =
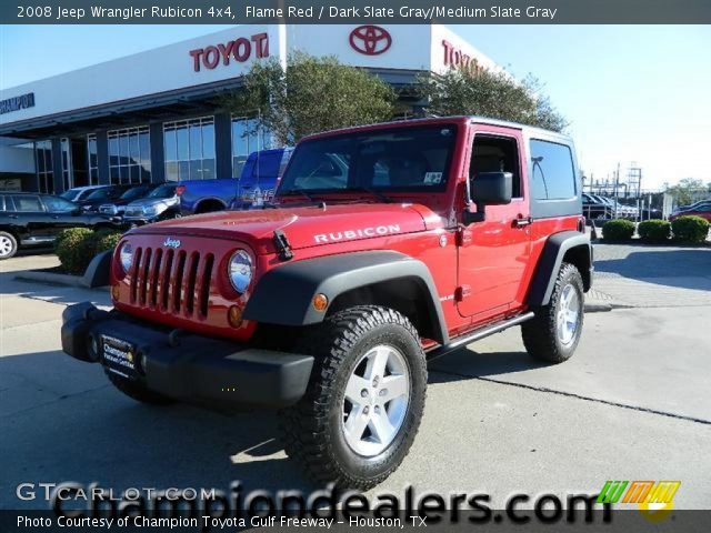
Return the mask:
<svg viewBox="0 0 711 533"><path fill-rule="evenodd" d="M550 302L534 313L521 324L525 351L549 363L568 361L580 341L584 315L582 276L573 264L561 265Z"/></svg>

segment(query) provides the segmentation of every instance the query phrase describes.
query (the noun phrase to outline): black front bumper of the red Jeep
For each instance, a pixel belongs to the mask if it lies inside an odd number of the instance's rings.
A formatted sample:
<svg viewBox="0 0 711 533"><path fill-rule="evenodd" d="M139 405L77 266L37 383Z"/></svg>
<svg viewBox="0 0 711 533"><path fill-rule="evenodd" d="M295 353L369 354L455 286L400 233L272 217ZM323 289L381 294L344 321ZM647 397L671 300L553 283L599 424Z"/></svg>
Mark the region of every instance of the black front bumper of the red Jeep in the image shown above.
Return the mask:
<svg viewBox="0 0 711 533"><path fill-rule="evenodd" d="M136 346L137 382L176 400L214 409L244 405L284 408L303 396L313 356L261 350L227 340L171 332L78 303L62 314L62 350L101 362L101 335ZM97 339L98 353L91 349Z"/></svg>

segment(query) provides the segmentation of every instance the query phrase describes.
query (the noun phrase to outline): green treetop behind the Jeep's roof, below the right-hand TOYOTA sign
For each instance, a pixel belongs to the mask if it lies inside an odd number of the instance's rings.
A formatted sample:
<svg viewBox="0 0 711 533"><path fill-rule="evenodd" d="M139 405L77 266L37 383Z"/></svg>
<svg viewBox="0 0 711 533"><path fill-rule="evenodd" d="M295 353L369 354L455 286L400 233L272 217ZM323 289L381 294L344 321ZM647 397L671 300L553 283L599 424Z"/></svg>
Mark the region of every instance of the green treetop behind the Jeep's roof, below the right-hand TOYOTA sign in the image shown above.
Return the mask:
<svg viewBox="0 0 711 533"><path fill-rule="evenodd" d="M429 100L432 114L479 114L562 131L568 121L541 89L532 76L520 82L488 69L451 69L419 79L420 94Z"/></svg>

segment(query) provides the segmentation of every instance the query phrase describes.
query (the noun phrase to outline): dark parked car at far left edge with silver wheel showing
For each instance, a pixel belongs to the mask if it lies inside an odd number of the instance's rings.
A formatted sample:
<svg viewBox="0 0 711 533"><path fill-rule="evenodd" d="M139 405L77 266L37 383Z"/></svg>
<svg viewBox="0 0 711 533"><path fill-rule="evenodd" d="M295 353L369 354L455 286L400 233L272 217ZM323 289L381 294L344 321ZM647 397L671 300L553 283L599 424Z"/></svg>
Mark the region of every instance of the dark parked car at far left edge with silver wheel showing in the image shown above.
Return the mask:
<svg viewBox="0 0 711 533"><path fill-rule="evenodd" d="M107 217L51 194L0 192L0 259L19 248L49 244L67 228L118 228Z"/></svg>

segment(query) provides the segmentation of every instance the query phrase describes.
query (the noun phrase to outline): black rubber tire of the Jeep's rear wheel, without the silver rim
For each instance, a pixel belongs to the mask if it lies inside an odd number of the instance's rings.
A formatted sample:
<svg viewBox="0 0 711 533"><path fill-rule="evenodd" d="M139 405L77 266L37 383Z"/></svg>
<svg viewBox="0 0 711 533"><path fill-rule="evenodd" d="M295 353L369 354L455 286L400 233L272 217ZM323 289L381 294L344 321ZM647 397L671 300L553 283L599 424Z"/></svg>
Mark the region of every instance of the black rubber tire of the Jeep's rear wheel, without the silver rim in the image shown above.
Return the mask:
<svg viewBox="0 0 711 533"><path fill-rule="evenodd" d="M525 351L534 359L545 361L549 363L562 363L572 355L578 346L580 340L580 330L582 330L582 323L584 320L584 313L581 309L580 323L578 325L578 339L570 346L570 349L561 350L561 346L555 341L557 332L557 313L558 301L560 300L563 286L571 282L578 285L580 295L583 295L582 276L578 269L571 263L562 263L558 278L555 279L555 285L553 293L551 294L551 301L548 305L542 305L534 310L535 316L521 324L521 336L523 339L523 345ZM584 306L584 302L581 301Z"/></svg>

